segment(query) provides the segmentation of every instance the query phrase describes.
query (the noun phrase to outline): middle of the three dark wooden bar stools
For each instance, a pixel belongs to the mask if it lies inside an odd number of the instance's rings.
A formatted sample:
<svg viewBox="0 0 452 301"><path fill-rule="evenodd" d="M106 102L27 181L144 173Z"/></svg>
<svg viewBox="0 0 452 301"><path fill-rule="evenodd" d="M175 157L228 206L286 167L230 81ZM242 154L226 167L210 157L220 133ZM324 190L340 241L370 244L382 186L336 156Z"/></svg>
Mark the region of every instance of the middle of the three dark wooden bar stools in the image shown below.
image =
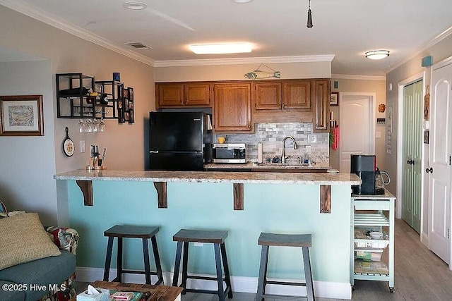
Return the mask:
<svg viewBox="0 0 452 301"><path fill-rule="evenodd" d="M179 266L182 256L182 245L184 245L184 258L182 261L182 288L183 294L186 292L196 293L209 293L217 294L220 301L225 300L225 295L232 298L231 279L229 273L229 266L227 265L225 239L227 238L227 231L200 231L200 230L187 230L182 229L172 237L173 241L177 241L176 261L174 263L174 275L172 280L172 286L177 286L179 281ZM204 242L213 243L213 249L215 250L215 266L217 268L216 277L206 276L191 276L187 274L187 266L189 261L189 242ZM225 270L225 277L222 276L221 262L223 269ZM186 288L187 279L202 279L217 281L218 290L195 290ZM226 288L223 290L223 281L226 283Z"/></svg>

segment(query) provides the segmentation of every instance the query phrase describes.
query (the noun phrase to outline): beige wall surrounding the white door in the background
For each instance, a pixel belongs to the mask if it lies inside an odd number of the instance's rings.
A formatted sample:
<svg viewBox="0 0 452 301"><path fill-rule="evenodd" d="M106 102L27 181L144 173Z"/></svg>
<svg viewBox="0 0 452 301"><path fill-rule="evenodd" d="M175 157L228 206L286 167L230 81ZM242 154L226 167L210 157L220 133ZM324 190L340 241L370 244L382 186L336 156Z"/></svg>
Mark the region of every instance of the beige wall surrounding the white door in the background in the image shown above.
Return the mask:
<svg viewBox="0 0 452 301"><path fill-rule="evenodd" d="M338 89L334 89L333 82L338 82ZM343 78L331 78L331 91L332 92L359 92L359 93L375 93L375 112L376 118L385 118L385 113L379 113L379 104L386 104L386 94L385 94L385 80L350 80ZM330 110L334 113L334 118L339 122L340 120L340 100L339 106L330 106ZM376 120L374 121L376 124ZM340 126L340 124L339 124ZM381 170L386 169L385 162L385 130L384 125L376 124L376 132L380 132L381 138L375 139L375 154L376 154L376 164ZM340 147L336 150L330 147L330 164L331 167L339 169L340 162Z"/></svg>

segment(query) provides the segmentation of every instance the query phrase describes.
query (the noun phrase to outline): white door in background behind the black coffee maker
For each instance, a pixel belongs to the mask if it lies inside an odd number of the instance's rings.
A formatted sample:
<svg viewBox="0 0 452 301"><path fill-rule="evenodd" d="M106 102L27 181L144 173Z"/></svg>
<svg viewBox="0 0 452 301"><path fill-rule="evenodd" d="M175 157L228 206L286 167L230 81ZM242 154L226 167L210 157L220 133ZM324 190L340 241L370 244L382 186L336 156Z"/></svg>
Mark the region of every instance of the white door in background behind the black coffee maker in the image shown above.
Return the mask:
<svg viewBox="0 0 452 301"><path fill-rule="evenodd" d="M340 173L350 173L350 154L374 154L374 115L371 95L340 96Z"/></svg>

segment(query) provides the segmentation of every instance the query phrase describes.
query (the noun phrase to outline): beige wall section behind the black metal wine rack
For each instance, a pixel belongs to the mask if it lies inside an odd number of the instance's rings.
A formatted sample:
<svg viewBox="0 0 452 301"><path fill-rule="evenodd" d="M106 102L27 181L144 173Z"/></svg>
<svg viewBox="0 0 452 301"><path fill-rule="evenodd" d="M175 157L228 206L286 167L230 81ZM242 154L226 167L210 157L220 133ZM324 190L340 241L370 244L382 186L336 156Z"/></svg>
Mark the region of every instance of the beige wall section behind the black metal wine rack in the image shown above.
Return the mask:
<svg viewBox="0 0 452 301"><path fill-rule="evenodd" d="M23 16L0 6L1 47L23 51L51 61L52 77L55 73L84 73L96 80L112 79L112 72L121 73L121 81L126 87L133 87L135 93L135 123L119 124L117 120L107 120L107 133L78 133L78 120L56 118L56 99L44 99L54 103L54 138L57 172L84 168L89 154L78 152L80 140L86 145L107 147L105 164L111 169L143 169L147 138L144 129L148 112L154 109L155 93L153 67L109 51L84 39L70 35L52 26ZM52 78L53 85L55 78ZM53 91L55 91L53 87ZM52 116L47 116L52 118ZM61 142L65 137L64 128L69 127L69 135L76 144L76 153L71 158L64 156ZM52 135L52 133L47 133Z"/></svg>

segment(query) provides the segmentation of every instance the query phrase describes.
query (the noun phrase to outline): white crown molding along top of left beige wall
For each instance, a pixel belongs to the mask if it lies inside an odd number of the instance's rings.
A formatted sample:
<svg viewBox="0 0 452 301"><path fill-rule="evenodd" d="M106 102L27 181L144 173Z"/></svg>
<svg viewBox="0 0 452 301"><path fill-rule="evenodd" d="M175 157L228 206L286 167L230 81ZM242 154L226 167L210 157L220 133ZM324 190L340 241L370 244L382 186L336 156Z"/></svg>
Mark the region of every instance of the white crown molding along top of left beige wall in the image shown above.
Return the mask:
<svg viewBox="0 0 452 301"><path fill-rule="evenodd" d="M0 0L0 4L6 6L7 8L11 8L13 11L23 13L25 16L34 18L36 20L40 20L41 22L46 23L47 25L50 25L52 27L56 27L59 30L69 32L71 35L75 35L76 37L85 39L88 42L92 42L94 44L115 51L124 56L128 56L129 58L134 59L136 61L140 61L141 63L145 63L150 66L155 65L155 61L153 59L149 59L147 56L143 56L142 54L137 54L134 51L131 50L129 51L127 49L118 47L117 44L110 42L108 39L95 35L92 32L88 32L88 30L84 30L83 28L73 25L71 23L63 22L62 20L59 20L57 16L53 16L49 13L41 11L38 8L31 7L28 4L24 4L23 1Z"/></svg>

